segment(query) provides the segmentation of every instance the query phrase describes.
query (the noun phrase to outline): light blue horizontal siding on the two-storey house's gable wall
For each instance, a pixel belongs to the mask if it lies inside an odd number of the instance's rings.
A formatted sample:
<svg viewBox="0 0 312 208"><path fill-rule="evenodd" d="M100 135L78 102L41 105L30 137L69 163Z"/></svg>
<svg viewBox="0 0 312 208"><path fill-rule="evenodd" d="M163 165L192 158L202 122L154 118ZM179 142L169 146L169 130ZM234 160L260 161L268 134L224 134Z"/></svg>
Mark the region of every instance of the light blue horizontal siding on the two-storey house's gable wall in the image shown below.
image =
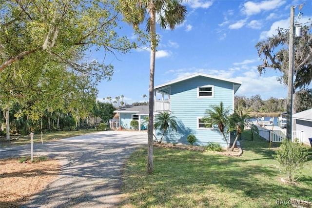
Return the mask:
<svg viewBox="0 0 312 208"><path fill-rule="evenodd" d="M214 85L214 98L197 98L197 87L204 85ZM226 146L218 130L197 129L197 118L204 117L210 105L219 105L221 101L233 111L233 94L233 83L202 76L172 84L171 112L177 118L178 131L168 132L164 142L187 144L187 136L194 134L198 140L195 145L206 146L208 142L217 142ZM158 138L160 132L156 134Z"/></svg>

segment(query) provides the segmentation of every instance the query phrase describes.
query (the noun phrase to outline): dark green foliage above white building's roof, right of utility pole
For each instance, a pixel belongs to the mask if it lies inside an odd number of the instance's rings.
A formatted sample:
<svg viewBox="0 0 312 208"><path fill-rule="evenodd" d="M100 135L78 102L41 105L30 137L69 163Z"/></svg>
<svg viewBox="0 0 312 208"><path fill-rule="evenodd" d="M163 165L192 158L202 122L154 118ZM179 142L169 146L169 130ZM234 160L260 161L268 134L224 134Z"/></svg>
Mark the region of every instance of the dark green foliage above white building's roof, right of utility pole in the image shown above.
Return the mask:
<svg viewBox="0 0 312 208"><path fill-rule="evenodd" d="M312 108L312 89L300 89L295 92L293 109L295 112L301 112Z"/></svg>

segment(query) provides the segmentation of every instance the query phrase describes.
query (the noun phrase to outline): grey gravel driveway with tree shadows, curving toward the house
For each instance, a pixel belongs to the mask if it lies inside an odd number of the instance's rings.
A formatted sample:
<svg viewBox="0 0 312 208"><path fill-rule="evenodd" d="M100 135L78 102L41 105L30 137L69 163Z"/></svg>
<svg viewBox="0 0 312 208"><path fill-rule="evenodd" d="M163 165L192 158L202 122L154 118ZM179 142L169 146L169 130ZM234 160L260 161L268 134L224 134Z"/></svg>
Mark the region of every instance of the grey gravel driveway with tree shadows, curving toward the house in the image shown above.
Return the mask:
<svg viewBox="0 0 312 208"><path fill-rule="evenodd" d="M121 200L125 159L147 144L147 132L103 131L34 144L34 154L61 161L61 172L25 208L110 208ZM28 148L29 147L29 148ZM0 149L0 158L28 155L30 145Z"/></svg>

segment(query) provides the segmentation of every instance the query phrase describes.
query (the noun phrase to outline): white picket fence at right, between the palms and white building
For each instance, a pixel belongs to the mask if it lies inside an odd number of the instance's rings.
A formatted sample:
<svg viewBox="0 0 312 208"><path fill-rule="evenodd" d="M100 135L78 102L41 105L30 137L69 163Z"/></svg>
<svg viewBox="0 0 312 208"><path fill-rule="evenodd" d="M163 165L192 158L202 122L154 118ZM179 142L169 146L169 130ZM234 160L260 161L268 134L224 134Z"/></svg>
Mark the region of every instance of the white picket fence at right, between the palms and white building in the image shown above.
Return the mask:
<svg viewBox="0 0 312 208"><path fill-rule="evenodd" d="M286 130L269 130L257 126L259 129L259 135L271 142L282 142L286 138ZM303 131L292 131L292 142L297 140L297 142L304 142L304 132Z"/></svg>

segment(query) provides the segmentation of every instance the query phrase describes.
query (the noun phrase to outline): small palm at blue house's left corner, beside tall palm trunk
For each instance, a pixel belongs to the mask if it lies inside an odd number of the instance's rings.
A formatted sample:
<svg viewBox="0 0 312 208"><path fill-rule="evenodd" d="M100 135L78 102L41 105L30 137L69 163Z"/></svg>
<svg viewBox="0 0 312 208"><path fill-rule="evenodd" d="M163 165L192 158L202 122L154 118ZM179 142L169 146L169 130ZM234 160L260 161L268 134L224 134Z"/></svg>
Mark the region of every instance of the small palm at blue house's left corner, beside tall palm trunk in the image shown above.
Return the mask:
<svg viewBox="0 0 312 208"><path fill-rule="evenodd" d="M157 142L158 144L160 144L168 128L177 130L176 116L172 116L167 111L160 112L159 114L156 115L156 121L155 121L154 127L155 129L159 128L160 130L163 131L160 140Z"/></svg>

